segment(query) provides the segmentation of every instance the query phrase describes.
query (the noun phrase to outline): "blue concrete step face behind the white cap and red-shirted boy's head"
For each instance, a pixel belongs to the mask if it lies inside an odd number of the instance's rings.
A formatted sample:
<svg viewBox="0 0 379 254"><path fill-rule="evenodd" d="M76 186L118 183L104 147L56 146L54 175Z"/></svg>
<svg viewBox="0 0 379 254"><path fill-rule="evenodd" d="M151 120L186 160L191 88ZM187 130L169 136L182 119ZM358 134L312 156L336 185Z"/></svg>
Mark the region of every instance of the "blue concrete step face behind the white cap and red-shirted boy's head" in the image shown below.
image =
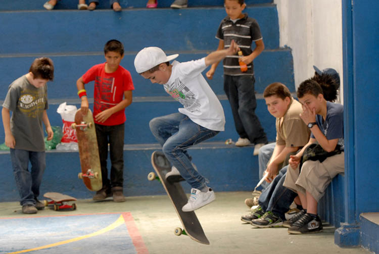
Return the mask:
<svg viewBox="0 0 379 254"><path fill-rule="evenodd" d="M177 60L185 62L203 58L207 55L205 51L199 52L167 52L167 54L179 53ZM138 75L134 69L134 57L136 52L127 52L121 62L121 65L129 70L135 90L134 96L167 96L162 86L152 84L150 80L144 79ZM3 82L0 84L0 100L4 100L8 86L18 77L24 75L29 70L30 64L36 57L51 57L55 65L55 79L49 82L49 98L77 98L76 80L83 75L90 67L95 64L105 62L104 53L96 52L93 54L71 54L71 55L30 55L2 57L0 56L0 73ZM203 72L205 73L209 70ZM255 90L263 93L267 85L272 82L282 82L286 84L291 91L295 91L294 71L291 49L265 50L254 60L255 71ZM216 73L212 80L208 80L216 94L224 94L223 91L223 68L222 64L217 67ZM86 85L87 93L93 96L93 82Z"/></svg>

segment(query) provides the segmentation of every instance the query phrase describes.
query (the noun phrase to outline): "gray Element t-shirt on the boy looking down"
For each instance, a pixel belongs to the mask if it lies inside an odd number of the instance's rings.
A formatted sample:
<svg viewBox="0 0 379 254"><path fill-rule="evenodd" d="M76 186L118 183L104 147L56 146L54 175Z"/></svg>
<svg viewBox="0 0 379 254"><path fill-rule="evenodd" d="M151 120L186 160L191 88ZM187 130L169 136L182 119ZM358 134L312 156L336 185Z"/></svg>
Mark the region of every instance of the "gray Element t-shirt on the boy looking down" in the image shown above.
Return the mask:
<svg viewBox="0 0 379 254"><path fill-rule="evenodd" d="M3 107L12 111L11 131L16 140L15 148L44 151L42 116L49 108L47 85L36 88L24 75L9 86Z"/></svg>

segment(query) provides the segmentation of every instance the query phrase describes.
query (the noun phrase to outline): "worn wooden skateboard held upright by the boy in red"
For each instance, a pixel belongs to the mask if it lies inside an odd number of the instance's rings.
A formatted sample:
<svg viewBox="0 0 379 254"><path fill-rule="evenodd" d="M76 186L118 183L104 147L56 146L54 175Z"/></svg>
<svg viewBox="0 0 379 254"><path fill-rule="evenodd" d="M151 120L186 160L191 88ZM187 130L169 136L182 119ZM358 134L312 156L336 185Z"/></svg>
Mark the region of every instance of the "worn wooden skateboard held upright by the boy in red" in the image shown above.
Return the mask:
<svg viewBox="0 0 379 254"><path fill-rule="evenodd" d="M75 113L75 123L71 128L76 129L78 139L81 172L78 174L83 179L85 186L92 191L103 187L102 172L100 167L98 139L93 123L92 112L88 109L86 115L78 109Z"/></svg>

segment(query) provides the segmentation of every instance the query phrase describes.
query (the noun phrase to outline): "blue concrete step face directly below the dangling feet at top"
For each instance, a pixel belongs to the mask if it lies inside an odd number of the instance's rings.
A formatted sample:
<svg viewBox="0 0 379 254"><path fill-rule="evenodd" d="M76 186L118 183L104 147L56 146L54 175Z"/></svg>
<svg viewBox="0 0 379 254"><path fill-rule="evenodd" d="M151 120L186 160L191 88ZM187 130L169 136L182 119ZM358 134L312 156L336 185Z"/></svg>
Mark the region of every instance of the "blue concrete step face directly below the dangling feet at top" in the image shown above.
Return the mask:
<svg viewBox="0 0 379 254"><path fill-rule="evenodd" d="M276 5L251 6L246 13L257 19L266 49L278 48ZM215 34L225 16L222 7L0 12L7 35L0 38L0 54L101 52L110 39L122 41L130 52L151 45L177 52L215 50Z"/></svg>

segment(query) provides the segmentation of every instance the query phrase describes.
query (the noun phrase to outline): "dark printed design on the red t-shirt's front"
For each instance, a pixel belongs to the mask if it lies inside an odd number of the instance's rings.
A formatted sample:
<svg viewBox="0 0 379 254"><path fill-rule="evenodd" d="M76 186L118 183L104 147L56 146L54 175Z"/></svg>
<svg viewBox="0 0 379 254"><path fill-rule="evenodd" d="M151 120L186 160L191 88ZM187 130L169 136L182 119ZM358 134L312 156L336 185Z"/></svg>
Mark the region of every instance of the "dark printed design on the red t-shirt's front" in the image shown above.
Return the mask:
<svg viewBox="0 0 379 254"><path fill-rule="evenodd" d="M105 78L96 76L95 86L98 91L98 95L100 99L95 99L93 101L93 111L103 112L113 106L117 105L117 103L113 103L115 101L116 95L116 86L115 86L115 78Z"/></svg>

